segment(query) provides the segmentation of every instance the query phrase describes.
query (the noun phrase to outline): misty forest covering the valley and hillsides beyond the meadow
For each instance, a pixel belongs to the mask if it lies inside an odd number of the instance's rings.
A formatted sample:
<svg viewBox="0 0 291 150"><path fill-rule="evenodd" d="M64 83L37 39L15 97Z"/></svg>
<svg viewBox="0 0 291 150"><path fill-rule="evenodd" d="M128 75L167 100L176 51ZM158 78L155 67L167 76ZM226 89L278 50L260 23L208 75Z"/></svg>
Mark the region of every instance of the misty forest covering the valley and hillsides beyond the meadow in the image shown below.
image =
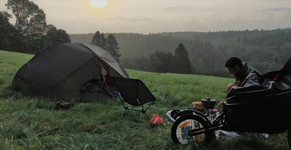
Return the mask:
<svg viewBox="0 0 291 150"><path fill-rule="evenodd" d="M69 34L72 42L89 43L94 33ZM191 62L190 74L230 77L224 63L230 56L265 74L291 57L291 28L217 32L113 33L121 65L127 69L175 73L175 49L182 43Z"/></svg>

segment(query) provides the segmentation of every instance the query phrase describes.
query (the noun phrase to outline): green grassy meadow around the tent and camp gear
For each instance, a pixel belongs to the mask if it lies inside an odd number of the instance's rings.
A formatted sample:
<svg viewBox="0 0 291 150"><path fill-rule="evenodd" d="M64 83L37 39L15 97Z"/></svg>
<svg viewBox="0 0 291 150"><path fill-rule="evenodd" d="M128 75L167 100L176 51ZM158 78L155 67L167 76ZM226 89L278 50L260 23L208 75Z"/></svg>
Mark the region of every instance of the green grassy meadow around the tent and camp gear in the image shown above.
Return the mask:
<svg viewBox="0 0 291 150"><path fill-rule="evenodd" d="M139 120L136 111L125 112L120 101L74 103L69 110L56 110L45 97L26 97L11 88L17 70L33 55L0 51L0 149L289 149L287 133L257 138L221 135L208 144L179 145L171 140L173 122L168 110L191 108L205 97L223 101L226 85L233 79L212 76L159 74L126 69L130 78L141 79L156 103ZM158 114L170 122L150 125Z"/></svg>

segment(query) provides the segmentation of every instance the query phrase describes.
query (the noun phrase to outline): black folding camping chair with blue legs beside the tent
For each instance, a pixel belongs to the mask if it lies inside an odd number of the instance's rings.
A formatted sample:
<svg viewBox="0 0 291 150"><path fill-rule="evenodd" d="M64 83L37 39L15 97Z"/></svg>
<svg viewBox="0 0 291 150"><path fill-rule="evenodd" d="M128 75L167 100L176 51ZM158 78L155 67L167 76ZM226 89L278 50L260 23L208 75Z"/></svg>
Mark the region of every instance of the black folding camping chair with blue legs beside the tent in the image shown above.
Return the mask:
<svg viewBox="0 0 291 150"><path fill-rule="evenodd" d="M111 77L116 90L119 92L118 96L121 103L123 104L124 110L121 116L124 114L125 110L135 110L141 112L141 119L143 113L155 102L156 98L152 95L150 90L145 86L145 84L139 79L130 78L117 78ZM124 104L126 102L126 104ZM144 104L151 102L148 108L144 108ZM133 106L142 106L142 110L128 108L128 104Z"/></svg>

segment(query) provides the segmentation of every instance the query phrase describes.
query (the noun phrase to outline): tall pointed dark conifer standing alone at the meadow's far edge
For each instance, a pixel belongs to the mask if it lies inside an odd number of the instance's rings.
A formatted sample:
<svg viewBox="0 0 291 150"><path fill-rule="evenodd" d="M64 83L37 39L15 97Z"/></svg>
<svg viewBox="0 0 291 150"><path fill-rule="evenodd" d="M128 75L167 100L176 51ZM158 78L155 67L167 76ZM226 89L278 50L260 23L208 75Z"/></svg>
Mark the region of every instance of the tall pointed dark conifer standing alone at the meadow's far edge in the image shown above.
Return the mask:
<svg viewBox="0 0 291 150"><path fill-rule="evenodd" d="M182 43L178 45L175 50L176 58L176 73L178 74L190 74L191 73L191 63L189 61L188 52Z"/></svg>

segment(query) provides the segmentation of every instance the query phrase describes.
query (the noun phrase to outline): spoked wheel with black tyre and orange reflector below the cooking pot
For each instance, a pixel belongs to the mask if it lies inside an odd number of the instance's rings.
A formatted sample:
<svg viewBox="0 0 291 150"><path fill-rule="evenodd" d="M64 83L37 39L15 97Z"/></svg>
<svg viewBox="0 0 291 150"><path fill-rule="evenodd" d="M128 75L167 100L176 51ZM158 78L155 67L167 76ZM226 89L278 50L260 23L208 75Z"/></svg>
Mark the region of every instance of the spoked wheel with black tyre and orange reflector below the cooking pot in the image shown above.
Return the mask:
<svg viewBox="0 0 291 150"><path fill-rule="evenodd" d="M180 144L197 144L199 142L207 142L210 140L211 133L205 133L190 137L188 132L195 128L209 128L207 122L197 115L182 115L173 124L171 136L174 143Z"/></svg>

